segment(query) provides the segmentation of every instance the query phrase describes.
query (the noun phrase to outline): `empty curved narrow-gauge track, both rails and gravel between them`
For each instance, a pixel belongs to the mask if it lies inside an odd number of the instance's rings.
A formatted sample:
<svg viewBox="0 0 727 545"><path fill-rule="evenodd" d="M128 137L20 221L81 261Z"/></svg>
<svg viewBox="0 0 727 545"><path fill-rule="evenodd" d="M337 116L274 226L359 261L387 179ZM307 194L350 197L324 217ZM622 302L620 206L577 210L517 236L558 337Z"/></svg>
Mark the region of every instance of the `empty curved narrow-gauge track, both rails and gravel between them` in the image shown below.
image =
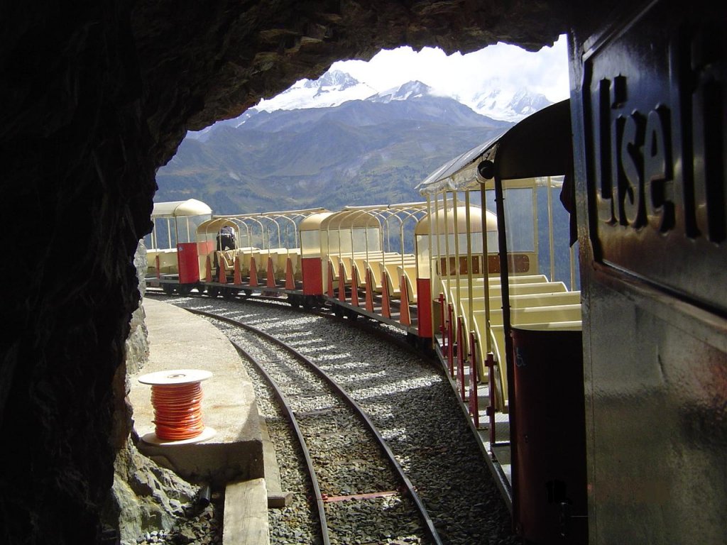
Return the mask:
<svg viewBox="0 0 727 545"><path fill-rule="evenodd" d="M247 338L233 344L273 388L299 441L323 544L345 543L350 521L345 516L347 509L340 508L344 501L369 502L374 509L379 504L381 512L389 515L379 514L366 530L374 539L406 538L416 543L442 544L409 477L377 427L345 389L316 363L275 336L213 312L191 312L245 331ZM245 346L256 347L257 353ZM346 437L347 441L337 445L329 440L332 436ZM328 471L332 464L339 466L335 472ZM342 467L348 477L345 482L340 480ZM390 469L385 479L384 467ZM396 508L392 509L393 506ZM329 518L337 520L337 524L329 525ZM418 531L411 533L413 528Z"/></svg>

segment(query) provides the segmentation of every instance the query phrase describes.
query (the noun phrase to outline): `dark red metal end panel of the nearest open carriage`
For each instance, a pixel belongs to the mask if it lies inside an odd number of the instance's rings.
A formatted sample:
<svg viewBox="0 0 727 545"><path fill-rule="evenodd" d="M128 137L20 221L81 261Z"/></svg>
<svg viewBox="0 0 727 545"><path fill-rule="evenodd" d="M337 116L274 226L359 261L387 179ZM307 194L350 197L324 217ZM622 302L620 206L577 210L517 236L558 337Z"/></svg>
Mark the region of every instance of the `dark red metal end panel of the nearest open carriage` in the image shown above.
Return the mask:
<svg viewBox="0 0 727 545"><path fill-rule="evenodd" d="M513 328L515 527L536 544L587 543L582 332Z"/></svg>

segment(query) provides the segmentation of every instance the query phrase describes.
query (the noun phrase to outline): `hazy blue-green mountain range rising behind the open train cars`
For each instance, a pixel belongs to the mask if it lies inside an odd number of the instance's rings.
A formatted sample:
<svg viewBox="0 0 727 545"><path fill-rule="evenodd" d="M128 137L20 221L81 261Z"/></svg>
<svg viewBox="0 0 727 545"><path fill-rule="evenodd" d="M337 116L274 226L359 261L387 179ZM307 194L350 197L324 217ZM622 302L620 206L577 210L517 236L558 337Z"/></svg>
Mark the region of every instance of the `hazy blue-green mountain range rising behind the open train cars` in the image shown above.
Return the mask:
<svg viewBox="0 0 727 545"><path fill-rule="evenodd" d="M428 174L510 126L420 81L336 106L254 108L189 134L158 170L156 200L199 198L217 214L420 201Z"/></svg>

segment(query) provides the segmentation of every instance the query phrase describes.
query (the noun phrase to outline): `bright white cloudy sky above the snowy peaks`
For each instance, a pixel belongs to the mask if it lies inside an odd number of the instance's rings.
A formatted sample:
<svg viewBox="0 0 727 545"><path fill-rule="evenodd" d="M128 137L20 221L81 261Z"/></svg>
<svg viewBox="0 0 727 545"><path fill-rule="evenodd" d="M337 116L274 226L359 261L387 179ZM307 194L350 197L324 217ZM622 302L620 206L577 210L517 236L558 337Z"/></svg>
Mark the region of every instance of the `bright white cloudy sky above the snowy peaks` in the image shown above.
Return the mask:
<svg viewBox="0 0 727 545"><path fill-rule="evenodd" d="M449 56L432 47L419 52L411 47L399 47L385 49L369 62L339 61L331 68L345 70L379 91L419 80L435 92L462 97L491 87L491 84L502 88L525 87L531 92L545 94L552 102L569 96L565 36L561 36L553 47L544 47L535 53L508 44Z"/></svg>

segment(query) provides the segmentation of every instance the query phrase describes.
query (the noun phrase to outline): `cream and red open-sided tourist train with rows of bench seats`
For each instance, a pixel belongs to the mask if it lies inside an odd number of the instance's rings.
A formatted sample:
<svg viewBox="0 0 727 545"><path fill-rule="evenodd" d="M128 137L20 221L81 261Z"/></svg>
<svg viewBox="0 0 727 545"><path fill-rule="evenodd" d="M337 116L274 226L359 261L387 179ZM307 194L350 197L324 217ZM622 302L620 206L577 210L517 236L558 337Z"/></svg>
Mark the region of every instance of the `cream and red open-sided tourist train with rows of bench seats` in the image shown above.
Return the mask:
<svg viewBox="0 0 727 545"><path fill-rule="evenodd" d="M568 127L568 101L534 114L433 172L422 202L211 216L177 245L176 277L156 259L150 283L401 328L441 360L515 528L585 543L582 307L570 216L554 205L570 196Z"/></svg>

